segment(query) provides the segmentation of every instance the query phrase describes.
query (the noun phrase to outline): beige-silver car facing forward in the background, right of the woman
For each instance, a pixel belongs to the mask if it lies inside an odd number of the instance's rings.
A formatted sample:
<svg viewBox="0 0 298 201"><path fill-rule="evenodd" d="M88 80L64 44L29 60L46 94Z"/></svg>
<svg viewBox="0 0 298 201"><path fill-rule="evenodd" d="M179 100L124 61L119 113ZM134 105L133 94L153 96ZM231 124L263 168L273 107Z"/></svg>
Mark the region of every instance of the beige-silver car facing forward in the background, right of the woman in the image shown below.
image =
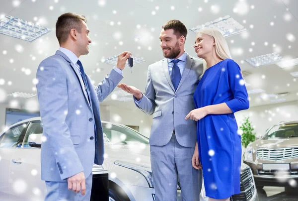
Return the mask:
<svg viewBox="0 0 298 201"><path fill-rule="evenodd" d="M282 122L250 143L244 163L253 172L259 189L264 186L297 187L298 121Z"/></svg>

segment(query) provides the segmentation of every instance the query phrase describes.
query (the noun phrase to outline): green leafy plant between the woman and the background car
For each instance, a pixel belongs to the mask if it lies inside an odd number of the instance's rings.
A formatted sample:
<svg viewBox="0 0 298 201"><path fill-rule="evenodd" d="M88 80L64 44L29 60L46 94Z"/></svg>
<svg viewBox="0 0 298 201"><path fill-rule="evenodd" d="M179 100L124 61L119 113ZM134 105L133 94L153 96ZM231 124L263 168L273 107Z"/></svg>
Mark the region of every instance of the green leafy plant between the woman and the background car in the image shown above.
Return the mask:
<svg viewBox="0 0 298 201"><path fill-rule="evenodd" d="M239 129L242 130L241 144L246 148L250 142L253 142L256 139L256 133L253 132L254 128L251 125L249 117L243 119L243 123Z"/></svg>

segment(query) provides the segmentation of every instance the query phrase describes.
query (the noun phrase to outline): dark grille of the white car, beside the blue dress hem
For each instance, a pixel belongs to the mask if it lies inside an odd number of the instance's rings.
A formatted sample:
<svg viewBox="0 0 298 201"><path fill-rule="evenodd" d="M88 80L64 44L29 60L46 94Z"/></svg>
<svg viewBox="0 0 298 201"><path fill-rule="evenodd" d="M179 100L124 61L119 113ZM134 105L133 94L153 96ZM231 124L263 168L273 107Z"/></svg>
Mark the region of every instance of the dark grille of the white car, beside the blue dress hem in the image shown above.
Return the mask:
<svg viewBox="0 0 298 201"><path fill-rule="evenodd" d="M249 167L240 175L240 194L233 195L230 201L250 201L255 193L254 185L252 184L252 175Z"/></svg>

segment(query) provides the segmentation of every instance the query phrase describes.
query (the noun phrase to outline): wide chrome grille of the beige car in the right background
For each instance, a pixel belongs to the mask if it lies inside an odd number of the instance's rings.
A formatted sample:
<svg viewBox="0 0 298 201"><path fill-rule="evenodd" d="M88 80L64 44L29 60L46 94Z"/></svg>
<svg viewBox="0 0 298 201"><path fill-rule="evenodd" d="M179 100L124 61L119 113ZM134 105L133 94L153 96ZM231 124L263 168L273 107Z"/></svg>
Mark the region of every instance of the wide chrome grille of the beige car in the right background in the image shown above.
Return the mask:
<svg viewBox="0 0 298 201"><path fill-rule="evenodd" d="M257 150L257 157L274 161L298 158L298 148L259 149Z"/></svg>

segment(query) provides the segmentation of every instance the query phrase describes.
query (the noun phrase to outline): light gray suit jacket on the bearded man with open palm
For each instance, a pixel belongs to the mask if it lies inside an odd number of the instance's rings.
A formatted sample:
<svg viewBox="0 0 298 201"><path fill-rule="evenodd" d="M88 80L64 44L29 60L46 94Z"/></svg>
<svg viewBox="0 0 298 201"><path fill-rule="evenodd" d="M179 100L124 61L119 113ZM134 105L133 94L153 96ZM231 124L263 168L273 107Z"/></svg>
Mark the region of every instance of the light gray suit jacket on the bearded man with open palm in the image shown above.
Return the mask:
<svg viewBox="0 0 298 201"><path fill-rule="evenodd" d="M166 145L175 129L180 145L195 147L197 123L193 120L186 121L185 117L195 109L193 95L202 72L202 60L187 54L186 66L175 92L167 59L149 65L146 92L137 106L153 117L150 145Z"/></svg>

